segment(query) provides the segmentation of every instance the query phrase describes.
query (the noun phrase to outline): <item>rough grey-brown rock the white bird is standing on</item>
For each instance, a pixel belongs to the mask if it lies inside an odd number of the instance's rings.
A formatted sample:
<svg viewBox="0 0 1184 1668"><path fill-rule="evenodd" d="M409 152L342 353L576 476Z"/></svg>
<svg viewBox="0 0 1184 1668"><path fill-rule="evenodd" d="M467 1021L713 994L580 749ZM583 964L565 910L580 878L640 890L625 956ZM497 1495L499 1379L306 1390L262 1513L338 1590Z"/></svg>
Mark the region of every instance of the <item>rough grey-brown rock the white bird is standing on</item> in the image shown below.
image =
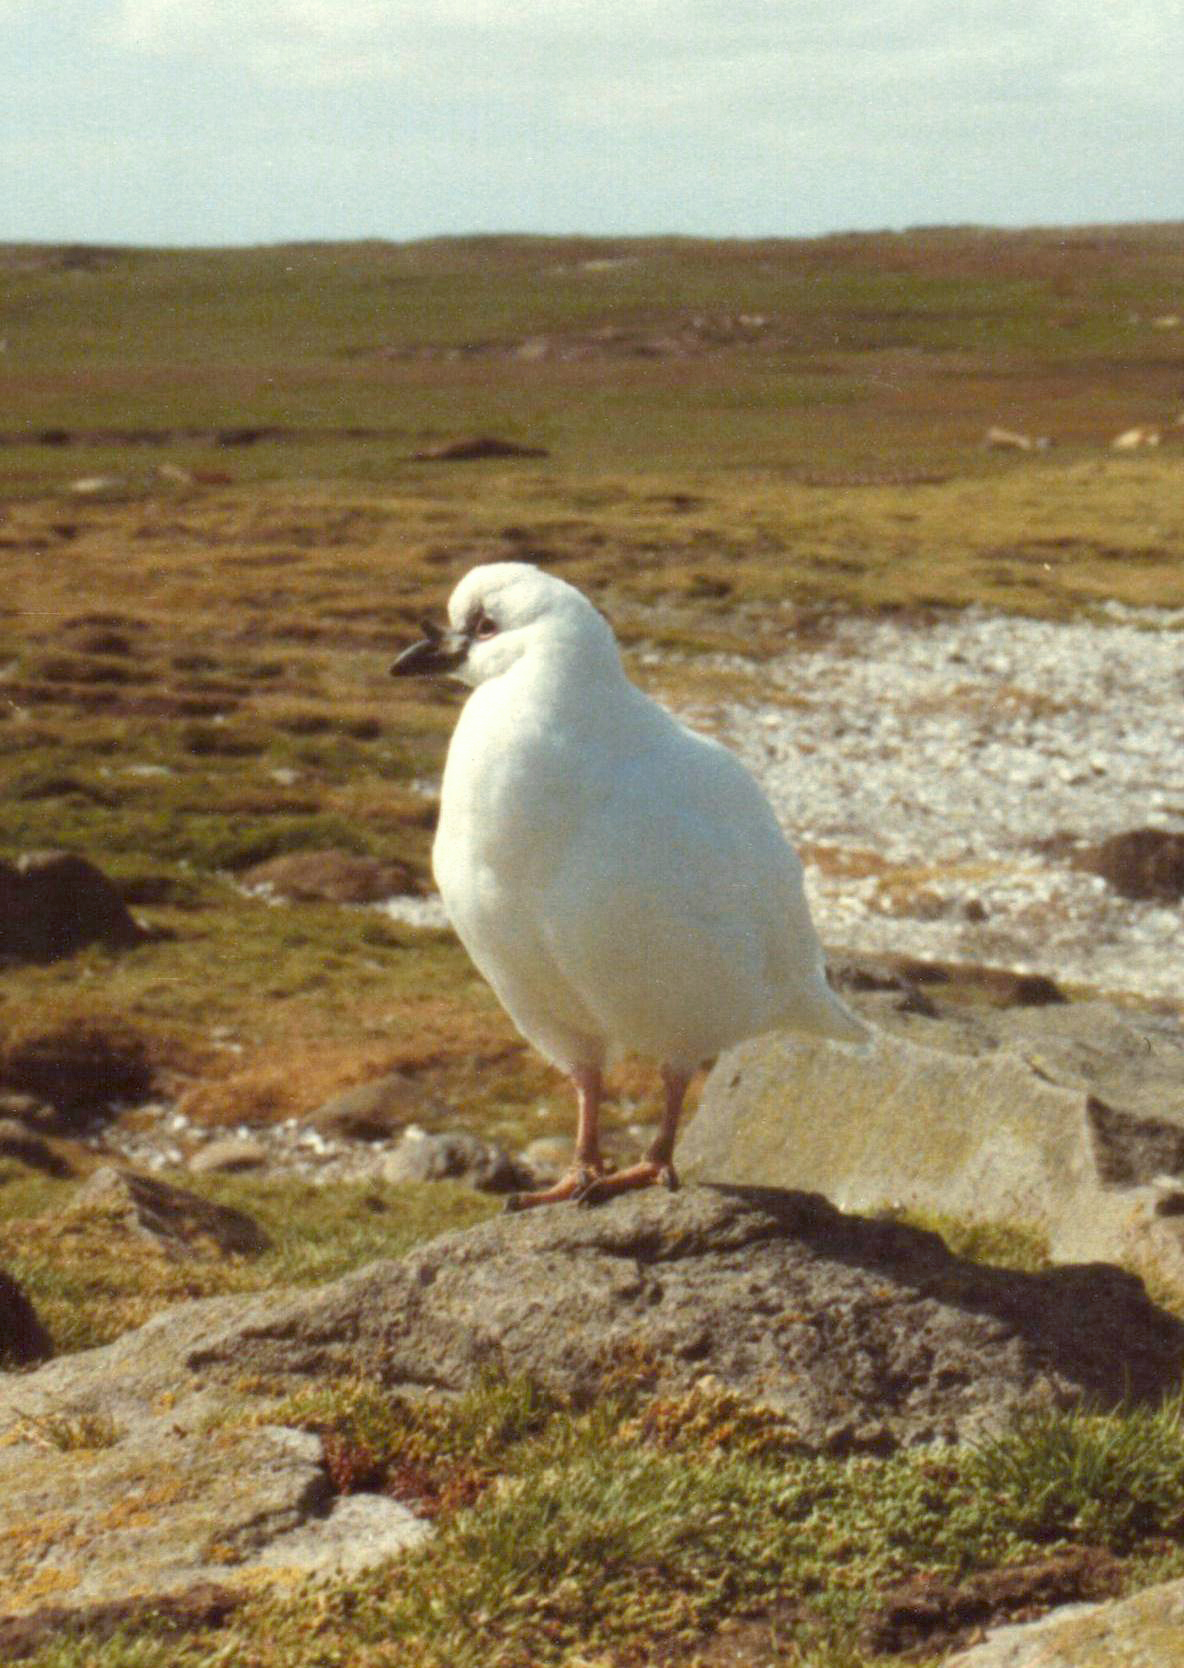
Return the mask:
<svg viewBox="0 0 1184 1668"><path fill-rule="evenodd" d="M585 1399L624 1358L670 1389L714 1373L817 1448L852 1429L892 1446L1017 1406L1154 1398L1184 1326L1121 1269L984 1268L817 1196L689 1188L499 1216L314 1291L180 1304L18 1401L110 1411L242 1374L455 1391L490 1368Z"/></svg>

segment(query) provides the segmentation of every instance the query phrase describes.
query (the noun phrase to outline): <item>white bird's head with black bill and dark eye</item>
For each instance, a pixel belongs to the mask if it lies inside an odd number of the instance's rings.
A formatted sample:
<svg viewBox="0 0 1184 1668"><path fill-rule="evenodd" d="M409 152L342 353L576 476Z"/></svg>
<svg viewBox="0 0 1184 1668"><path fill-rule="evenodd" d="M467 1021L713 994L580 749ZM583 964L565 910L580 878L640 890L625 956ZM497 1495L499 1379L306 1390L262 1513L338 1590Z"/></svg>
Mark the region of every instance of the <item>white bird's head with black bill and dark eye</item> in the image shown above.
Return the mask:
<svg viewBox="0 0 1184 1668"><path fill-rule="evenodd" d="M604 615L574 585L529 562L470 569L449 597L449 629L424 620L424 632L390 667L392 677L442 672L475 687L524 656L619 664Z"/></svg>

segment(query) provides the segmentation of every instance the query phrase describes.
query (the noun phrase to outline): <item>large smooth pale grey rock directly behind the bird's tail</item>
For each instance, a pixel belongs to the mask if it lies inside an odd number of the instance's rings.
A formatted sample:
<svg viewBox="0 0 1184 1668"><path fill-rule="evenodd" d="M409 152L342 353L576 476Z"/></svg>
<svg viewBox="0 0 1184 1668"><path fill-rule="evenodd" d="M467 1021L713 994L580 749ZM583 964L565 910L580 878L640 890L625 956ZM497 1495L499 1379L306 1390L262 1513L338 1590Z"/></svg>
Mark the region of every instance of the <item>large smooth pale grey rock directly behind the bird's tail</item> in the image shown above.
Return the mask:
<svg viewBox="0 0 1184 1668"><path fill-rule="evenodd" d="M1107 1002L855 997L867 1053L774 1034L725 1054L685 1176L817 1188L844 1209L1027 1223L1059 1259L1184 1284L1184 1032Z"/></svg>

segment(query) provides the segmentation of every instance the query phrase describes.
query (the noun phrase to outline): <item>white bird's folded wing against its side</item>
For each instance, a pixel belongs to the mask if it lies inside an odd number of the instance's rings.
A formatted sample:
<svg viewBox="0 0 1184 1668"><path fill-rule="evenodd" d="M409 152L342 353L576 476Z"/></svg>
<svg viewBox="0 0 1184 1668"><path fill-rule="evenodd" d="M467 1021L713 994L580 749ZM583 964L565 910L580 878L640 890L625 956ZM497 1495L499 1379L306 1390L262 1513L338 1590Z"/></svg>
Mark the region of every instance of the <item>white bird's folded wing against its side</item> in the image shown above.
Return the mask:
<svg viewBox="0 0 1184 1668"><path fill-rule="evenodd" d="M695 1064L810 1021L822 957L802 869L740 762L677 731L630 759L569 842L540 917L620 1048Z"/></svg>

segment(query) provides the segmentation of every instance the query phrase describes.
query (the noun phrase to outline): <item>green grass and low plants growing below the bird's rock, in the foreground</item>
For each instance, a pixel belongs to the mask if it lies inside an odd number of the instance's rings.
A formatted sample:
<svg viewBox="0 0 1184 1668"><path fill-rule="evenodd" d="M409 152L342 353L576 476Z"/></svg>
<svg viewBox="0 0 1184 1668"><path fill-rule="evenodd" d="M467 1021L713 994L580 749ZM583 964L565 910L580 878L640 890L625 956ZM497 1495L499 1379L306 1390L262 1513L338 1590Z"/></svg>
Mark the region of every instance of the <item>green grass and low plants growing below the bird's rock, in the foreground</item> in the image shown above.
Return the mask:
<svg viewBox="0 0 1184 1668"><path fill-rule="evenodd" d="M442 1404L355 1383L278 1416L322 1434L339 1486L412 1498L437 1533L395 1570L248 1600L223 1631L170 1641L178 1663L677 1663L734 1618L780 1616L780 1655L732 1660L859 1668L882 1660L862 1625L906 1576L956 1583L1074 1546L1124 1558L1132 1585L1184 1568L1179 1401L850 1460L800 1451L720 1389L655 1401L619 1386L579 1408L522 1379ZM1089 1511L1034 1510L1059 1491ZM150 1623L92 1648L97 1668L163 1660ZM35 1658L73 1660L67 1645Z"/></svg>

